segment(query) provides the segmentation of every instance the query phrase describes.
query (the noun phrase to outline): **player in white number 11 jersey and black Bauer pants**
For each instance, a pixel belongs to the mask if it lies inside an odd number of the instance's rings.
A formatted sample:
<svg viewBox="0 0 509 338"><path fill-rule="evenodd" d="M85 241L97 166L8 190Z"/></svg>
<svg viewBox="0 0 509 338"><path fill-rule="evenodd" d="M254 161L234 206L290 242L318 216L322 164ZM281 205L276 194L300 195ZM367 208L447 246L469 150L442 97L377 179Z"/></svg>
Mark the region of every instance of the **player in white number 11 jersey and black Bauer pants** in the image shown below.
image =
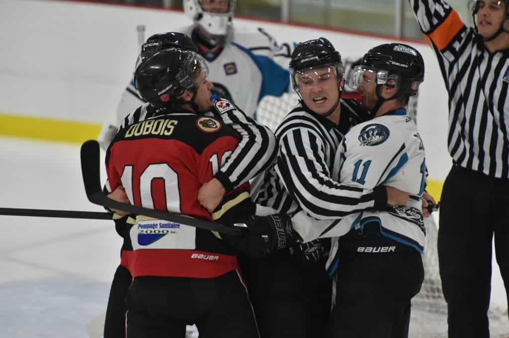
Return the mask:
<svg viewBox="0 0 509 338"><path fill-rule="evenodd" d="M424 78L414 48L384 44L367 52L350 78L370 120L353 126L338 148L333 178L363 189L389 185L410 193L405 206L363 211L333 222L304 213L293 218L304 241L333 240L328 271L335 306L328 337L408 336L410 300L420 290L426 228L421 201L426 186L425 150L404 108Z"/></svg>

